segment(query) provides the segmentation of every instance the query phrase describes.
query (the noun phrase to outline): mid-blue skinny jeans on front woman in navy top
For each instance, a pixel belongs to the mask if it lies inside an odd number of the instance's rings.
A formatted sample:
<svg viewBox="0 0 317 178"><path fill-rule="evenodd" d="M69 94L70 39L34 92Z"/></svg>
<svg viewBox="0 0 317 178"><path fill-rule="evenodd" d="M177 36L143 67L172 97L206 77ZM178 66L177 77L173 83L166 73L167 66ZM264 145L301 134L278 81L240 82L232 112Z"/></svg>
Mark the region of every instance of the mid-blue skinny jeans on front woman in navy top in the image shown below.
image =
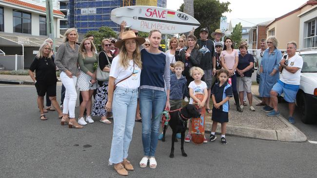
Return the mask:
<svg viewBox="0 0 317 178"><path fill-rule="evenodd" d="M140 90L142 143L144 156L155 156L158 145L161 112L166 104L166 92L154 89ZM160 114L160 115L159 115ZM158 116L158 117L157 117Z"/></svg>

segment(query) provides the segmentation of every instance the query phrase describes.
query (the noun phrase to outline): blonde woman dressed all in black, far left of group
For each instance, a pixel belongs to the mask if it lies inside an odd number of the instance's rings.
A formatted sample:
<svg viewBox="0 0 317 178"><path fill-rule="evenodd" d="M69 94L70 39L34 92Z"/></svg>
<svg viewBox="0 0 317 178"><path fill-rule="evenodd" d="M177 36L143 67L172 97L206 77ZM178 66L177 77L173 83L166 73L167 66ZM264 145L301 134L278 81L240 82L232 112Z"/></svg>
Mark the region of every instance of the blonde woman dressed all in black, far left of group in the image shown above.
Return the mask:
<svg viewBox="0 0 317 178"><path fill-rule="evenodd" d="M59 109L59 104L56 101L56 66L52 57L49 55L51 53L51 45L48 42L44 42L40 46L39 53L33 60L29 75L35 83L36 90L38 92L38 106L40 108L40 120L47 120L47 117L43 112L43 100L44 95L49 97L53 106L59 113L59 119L62 118L63 113ZM34 77L34 71L36 71L36 76Z"/></svg>

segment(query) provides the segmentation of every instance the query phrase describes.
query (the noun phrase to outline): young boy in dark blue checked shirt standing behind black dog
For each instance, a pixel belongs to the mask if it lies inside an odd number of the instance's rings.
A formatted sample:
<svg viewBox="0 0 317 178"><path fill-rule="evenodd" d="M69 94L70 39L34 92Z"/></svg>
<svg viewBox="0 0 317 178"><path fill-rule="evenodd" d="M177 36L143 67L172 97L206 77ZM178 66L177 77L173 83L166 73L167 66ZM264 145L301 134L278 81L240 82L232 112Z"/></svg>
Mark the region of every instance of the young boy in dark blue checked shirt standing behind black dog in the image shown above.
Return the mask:
<svg viewBox="0 0 317 178"><path fill-rule="evenodd" d="M171 73L171 90L170 90L170 105L171 110L179 109L182 107L183 95L185 93L187 80L181 74L184 71L184 63L177 61L175 63L175 73ZM162 140L163 133L158 136L158 140ZM180 139L180 133L176 134L176 137Z"/></svg>

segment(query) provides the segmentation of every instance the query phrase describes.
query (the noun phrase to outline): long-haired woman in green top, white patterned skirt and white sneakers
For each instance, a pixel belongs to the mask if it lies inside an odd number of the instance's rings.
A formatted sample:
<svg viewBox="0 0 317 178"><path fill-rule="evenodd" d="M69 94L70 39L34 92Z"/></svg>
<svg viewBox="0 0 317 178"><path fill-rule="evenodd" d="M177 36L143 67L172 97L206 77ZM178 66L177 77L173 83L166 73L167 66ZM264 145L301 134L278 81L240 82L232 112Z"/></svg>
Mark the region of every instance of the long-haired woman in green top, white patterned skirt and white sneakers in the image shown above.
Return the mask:
<svg viewBox="0 0 317 178"><path fill-rule="evenodd" d="M77 79L77 89L79 89L82 96L82 102L79 107L79 119L80 125L86 125L86 122L94 123L91 118L91 97L94 90L97 89L96 71L94 64L98 61L98 55L95 53L96 47L94 43L88 37L84 38L79 46L79 77ZM86 121L83 118L84 111L87 109Z"/></svg>

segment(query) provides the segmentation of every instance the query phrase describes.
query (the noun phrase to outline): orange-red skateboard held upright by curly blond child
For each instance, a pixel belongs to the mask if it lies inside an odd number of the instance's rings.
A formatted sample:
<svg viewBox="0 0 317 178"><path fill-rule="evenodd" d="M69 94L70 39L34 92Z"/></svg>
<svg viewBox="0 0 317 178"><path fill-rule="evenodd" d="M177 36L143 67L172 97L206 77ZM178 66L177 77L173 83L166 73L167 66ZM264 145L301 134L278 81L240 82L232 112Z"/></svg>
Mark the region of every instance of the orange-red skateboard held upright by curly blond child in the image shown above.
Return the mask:
<svg viewBox="0 0 317 178"><path fill-rule="evenodd" d="M203 94L195 94L195 96L202 101L204 98ZM197 103L195 103L195 101L193 102L193 104L195 105L195 107L198 109L198 111L200 112L200 117L199 118L193 118L192 119L192 141L195 144L201 144L204 141L204 135L205 135L205 113L206 113L206 109L205 107L201 107L199 108Z"/></svg>

